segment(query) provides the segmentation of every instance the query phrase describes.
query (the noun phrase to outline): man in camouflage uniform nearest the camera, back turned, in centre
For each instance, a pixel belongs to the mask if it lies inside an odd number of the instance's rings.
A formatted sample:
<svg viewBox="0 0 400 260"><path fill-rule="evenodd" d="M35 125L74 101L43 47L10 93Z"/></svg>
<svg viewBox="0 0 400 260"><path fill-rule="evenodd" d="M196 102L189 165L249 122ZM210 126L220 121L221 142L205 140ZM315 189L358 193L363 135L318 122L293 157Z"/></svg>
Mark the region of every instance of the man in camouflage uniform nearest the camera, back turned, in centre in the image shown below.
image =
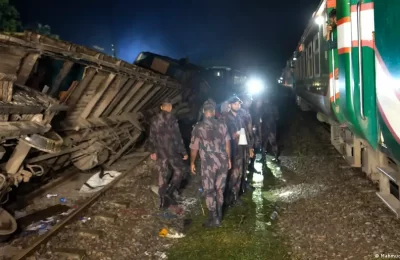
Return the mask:
<svg viewBox="0 0 400 260"><path fill-rule="evenodd" d="M196 174L195 160L200 150L201 179L209 218L205 227L221 225L226 177L230 169L230 136L226 125L215 119L215 103L203 105L203 120L195 125L190 142L190 169Z"/></svg>

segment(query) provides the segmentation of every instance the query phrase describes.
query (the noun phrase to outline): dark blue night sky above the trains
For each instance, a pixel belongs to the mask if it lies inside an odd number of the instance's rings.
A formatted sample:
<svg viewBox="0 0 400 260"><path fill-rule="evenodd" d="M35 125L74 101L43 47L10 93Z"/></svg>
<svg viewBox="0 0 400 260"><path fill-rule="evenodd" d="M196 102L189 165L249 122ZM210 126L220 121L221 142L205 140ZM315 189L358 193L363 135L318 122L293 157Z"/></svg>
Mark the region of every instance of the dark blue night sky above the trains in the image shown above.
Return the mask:
<svg viewBox="0 0 400 260"><path fill-rule="evenodd" d="M319 0L14 0L23 23L97 45L132 62L139 52L189 56L204 66L258 68L276 77Z"/></svg>

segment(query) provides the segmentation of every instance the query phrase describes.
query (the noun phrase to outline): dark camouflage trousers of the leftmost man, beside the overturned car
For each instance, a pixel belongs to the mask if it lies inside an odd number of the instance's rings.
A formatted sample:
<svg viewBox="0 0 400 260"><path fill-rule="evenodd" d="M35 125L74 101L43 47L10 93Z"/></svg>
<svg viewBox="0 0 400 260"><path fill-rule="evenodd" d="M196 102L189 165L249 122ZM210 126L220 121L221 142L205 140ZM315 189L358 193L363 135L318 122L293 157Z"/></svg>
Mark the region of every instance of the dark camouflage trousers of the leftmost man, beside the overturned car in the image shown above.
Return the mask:
<svg viewBox="0 0 400 260"><path fill-rule="evenodd" d="M164 193L170 183L179 189L185 171L185 164L182 157L175 156L168 159L157 158L156 165L158 170L159 194ZM172 176L170 175L171 170Z"/></svg>

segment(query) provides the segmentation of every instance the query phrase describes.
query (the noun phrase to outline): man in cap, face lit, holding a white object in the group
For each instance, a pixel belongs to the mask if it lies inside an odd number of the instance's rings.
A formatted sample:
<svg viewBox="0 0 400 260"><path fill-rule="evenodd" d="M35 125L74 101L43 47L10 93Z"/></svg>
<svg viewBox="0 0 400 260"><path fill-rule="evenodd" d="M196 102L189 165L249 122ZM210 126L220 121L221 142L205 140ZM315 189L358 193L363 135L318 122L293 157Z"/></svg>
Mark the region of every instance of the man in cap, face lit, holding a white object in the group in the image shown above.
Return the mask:
<svg viewBox="0 0 400 260"><path fill-rule="evenodd" d="M248 146L239 145L240 129L244 128L247 140L249 140L247 127L238 114L242 101L234 96L229 100L230 112L226 115L226 125L231 136L231 162L232 169L228 176L228 189L227 189L227 205L241 204L239 199L239 191L241 187L241 180L243 175L243 164L245 160L245 151ZM246 151L247 153L247 151ZM249 149L250 157L254 156L253 149Z"/></svg>

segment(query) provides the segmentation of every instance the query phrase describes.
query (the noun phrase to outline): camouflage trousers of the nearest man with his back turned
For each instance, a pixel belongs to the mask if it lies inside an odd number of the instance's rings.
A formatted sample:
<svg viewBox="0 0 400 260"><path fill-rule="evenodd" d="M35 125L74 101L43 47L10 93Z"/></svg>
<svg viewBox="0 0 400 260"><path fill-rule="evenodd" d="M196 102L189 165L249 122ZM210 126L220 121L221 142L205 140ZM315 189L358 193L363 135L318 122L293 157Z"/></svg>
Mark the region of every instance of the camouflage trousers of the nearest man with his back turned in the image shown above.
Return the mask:
<svg viewBox="0 0 400 260"><path fill-rule="evenodd" d="M228 175L228 157L223 154L207 153L201 160L201 182L209 211L224 203L224 190Z"/></svg>

